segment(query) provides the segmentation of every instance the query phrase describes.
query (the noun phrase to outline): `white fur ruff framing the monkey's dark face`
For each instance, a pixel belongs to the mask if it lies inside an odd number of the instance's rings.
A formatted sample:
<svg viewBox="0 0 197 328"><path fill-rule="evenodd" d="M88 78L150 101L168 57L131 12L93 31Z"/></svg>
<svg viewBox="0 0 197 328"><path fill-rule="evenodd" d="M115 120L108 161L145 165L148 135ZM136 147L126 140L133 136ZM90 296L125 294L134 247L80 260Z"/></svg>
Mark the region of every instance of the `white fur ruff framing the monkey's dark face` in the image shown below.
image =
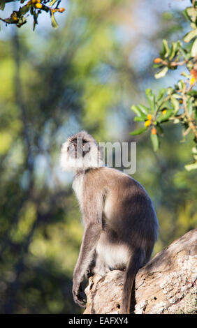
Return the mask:
<svg viewBox="0 0 197 328"><path fill-rule="evenodd" d="M103 161L101 161L99 149L94 142L89 142L90 151L85 156L80 156L80 158L73 158L68 154L68 143L68 141L64 142L61 147L59 163L62 170L78 172L80 170L87 170L88 168L104 166Z"/></svg>

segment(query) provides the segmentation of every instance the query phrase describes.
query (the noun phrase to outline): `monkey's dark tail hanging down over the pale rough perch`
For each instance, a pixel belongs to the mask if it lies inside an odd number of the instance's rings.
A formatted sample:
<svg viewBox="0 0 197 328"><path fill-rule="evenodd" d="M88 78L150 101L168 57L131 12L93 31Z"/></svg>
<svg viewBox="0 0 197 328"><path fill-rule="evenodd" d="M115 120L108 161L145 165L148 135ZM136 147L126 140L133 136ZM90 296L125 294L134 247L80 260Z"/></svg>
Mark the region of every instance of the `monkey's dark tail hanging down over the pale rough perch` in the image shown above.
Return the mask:
<svg viewBox="0 0 197 328"><path fill-rule="evenodd" d="M122 293L122 305L120 307L120 313L129 314L131 306L131 292L133 288L133 282L136 278L138 269L143 266L145 260L144 252L138 250L131 255L129 262L126 267L126 272L124 276L124 286Z"/></svg>

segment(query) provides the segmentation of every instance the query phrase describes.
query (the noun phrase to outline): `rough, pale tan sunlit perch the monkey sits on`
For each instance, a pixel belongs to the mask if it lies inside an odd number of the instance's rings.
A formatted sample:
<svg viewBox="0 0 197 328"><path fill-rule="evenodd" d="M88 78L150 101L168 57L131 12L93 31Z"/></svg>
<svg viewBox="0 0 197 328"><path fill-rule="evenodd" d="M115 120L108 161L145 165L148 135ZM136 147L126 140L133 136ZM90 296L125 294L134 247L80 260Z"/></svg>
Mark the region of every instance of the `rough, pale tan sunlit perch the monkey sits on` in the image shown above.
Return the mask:
<svg viewBox="0 0 197 328"><path fill-rule="evenodd" d="M197 229L154 256L136 275L131 313L195 313ZM85 314L119 313L124 271L89 278Z"/></svg>

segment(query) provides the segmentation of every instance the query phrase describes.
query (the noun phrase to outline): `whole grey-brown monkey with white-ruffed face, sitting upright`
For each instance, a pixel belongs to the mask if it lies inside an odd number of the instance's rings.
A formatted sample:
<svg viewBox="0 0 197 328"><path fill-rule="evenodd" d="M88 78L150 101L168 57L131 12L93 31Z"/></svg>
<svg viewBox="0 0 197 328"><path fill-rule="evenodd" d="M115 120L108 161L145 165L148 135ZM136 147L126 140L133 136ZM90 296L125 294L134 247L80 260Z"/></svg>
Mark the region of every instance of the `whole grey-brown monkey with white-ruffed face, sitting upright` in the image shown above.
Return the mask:
<svg viewBox="0 0 197 328"><path fill-rule="evenodd" d="M101 161L99 145L81 131L61 145L62 170L75 172L73 190L85 231L73 272L74 301L85 307L80 287L85 274L125 269L120 313L130 313L136 273L152 255L159 228L147 192L136 180Z"/></svg>

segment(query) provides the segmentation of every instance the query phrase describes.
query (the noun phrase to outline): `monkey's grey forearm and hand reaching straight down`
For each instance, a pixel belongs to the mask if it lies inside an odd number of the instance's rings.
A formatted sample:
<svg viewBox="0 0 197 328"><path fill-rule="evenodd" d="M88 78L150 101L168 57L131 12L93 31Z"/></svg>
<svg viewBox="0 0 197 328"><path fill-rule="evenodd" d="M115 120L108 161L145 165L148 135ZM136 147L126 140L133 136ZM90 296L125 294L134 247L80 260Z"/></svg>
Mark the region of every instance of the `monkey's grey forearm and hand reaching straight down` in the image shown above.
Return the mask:
<svg viewBox="0 0 197 328"><path fill-rule="evenodd" d="M78 262L73 273L73 299L79 306L85 307L85 300L80 297L80 284L94 256L97 241L102 230L100 223L89 223L85 227Z"/></svg>

